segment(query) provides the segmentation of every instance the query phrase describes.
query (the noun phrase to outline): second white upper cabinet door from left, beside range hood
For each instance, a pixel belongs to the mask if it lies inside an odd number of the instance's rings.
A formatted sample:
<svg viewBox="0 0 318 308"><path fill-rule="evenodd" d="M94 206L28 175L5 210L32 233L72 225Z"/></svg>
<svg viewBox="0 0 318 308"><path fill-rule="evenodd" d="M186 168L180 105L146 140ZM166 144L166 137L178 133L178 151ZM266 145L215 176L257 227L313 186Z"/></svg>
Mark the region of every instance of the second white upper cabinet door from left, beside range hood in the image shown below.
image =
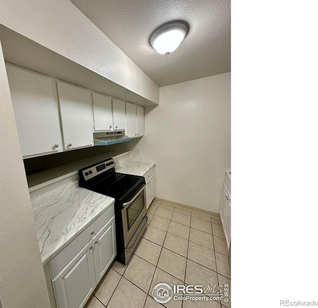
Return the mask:
<svg viewBox="0 0 318 308"><path fill-rule="evenodd" d="M65 149L94 145L89 91L57 82Z"/></svg>

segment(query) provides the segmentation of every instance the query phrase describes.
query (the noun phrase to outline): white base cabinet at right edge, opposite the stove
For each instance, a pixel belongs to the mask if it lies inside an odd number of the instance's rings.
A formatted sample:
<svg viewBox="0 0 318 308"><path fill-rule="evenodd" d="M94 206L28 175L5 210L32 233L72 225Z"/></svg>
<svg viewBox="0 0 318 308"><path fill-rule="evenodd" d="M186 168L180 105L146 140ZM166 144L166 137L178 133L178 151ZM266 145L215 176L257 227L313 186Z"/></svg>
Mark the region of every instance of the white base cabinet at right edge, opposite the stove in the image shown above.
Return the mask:
<svg viewBox="0 0 318 308"><path fill-rule="evenodd" d="M227 241L228 248L231 242L231 175L229 171L225 174L225 182L221 197L220 218Z"/></svg>

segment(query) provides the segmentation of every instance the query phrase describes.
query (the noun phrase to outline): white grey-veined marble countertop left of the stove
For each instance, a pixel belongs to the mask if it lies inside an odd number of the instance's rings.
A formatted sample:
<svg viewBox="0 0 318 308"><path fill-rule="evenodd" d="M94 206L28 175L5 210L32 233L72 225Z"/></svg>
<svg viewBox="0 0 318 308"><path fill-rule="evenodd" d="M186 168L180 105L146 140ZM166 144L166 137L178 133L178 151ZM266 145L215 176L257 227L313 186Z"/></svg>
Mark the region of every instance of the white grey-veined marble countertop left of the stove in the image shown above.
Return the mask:
<svg viewBox="0 0 318 308"><path fill-rule="evenodd" d="M45 264L115 199L79 187L78 181L31 200L42 263Z"/></svg>

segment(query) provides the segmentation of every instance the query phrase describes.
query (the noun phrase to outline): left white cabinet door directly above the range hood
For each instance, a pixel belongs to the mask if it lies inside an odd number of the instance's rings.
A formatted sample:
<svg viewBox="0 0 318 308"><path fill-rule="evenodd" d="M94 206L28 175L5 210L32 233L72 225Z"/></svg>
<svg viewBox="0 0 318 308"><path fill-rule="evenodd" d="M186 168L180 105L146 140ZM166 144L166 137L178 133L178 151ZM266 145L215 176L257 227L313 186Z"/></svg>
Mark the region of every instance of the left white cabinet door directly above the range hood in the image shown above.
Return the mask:
<svg viewBox="0 0 318 308"><path fill-rule="evenodd" d="M111 131L113 127L113 115L111 97L92 93L94 132Z"/></svg>

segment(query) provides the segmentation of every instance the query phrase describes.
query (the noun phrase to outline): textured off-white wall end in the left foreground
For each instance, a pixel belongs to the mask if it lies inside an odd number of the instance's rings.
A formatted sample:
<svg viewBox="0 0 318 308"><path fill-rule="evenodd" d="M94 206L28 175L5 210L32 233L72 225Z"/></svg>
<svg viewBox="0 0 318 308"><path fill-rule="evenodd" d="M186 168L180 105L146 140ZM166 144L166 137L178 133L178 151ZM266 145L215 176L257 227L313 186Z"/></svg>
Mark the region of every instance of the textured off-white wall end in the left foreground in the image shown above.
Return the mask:
<svg viewBox="0 0 318 308"><path fill-rule="evenodd" d="M50 307L1 45L0 295L4 308Z"/></svg>

